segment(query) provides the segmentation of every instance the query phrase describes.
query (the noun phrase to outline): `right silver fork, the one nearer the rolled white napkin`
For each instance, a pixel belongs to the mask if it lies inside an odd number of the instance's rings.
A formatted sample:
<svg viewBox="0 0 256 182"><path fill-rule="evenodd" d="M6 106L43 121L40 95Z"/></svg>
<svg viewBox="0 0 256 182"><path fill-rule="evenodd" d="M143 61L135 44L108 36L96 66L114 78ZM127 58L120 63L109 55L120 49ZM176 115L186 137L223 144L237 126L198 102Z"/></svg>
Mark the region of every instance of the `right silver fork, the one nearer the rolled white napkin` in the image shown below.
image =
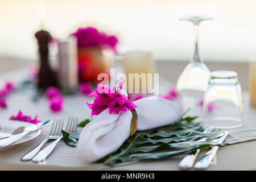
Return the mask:
<svg viewBox="0 0 256 182"><path fill-rule="evenodd" d="M78 118L75 117L69 117L66 130L67 133L76 133L78 125ZM40 151L34 158L32 158L32 162L39 163L44 160L51 154L53 149L57 146L57 144L60 142L60 140L63 138L63 135L61 134L59 138L57 138L54 142L49 144L44 150Z"/></svg>

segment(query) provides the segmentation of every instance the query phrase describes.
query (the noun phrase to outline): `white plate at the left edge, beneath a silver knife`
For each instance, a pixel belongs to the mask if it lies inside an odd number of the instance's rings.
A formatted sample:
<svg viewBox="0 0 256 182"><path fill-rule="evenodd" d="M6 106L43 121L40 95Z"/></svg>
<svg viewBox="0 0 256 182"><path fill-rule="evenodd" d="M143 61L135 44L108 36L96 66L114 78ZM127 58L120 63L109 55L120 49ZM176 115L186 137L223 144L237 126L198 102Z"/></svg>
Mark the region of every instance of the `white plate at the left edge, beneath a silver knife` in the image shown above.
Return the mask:
<svg viewBox="0 0 256 182"><path fill-rule="evenodd" d="M2 121L0 121L0 125L1 125L0 138L2 138L2 137L10 136L11 133L13 133L13 131L20 126L28 127L28 126L32 126L34 124L28 123L28 122L23 122L23 121L3 121L2 120ZM0 149L0 151L12 148L20 143L24 143L29 140L32 140L32 139L38 137L38 135L40 135L40 133L41 133L41 130L37 130L34 133L31 133L30 135L28 135L27 137L24 137L24 138L16 141L15 143L11 144L10 146Z"/></svg>

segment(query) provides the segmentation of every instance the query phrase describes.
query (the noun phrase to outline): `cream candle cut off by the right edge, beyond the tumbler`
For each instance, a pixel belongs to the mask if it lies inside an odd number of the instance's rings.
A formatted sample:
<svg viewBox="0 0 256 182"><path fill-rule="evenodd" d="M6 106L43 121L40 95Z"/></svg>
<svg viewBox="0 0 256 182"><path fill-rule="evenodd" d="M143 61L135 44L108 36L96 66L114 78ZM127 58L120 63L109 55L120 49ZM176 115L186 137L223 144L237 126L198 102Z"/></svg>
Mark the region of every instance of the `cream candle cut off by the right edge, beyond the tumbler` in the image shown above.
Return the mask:
<svg viewBox="0 0 256 182"><path fill-rule="evenodd" d="M250 64L250 104L256 106L256 60L251 60Z"/></svg>

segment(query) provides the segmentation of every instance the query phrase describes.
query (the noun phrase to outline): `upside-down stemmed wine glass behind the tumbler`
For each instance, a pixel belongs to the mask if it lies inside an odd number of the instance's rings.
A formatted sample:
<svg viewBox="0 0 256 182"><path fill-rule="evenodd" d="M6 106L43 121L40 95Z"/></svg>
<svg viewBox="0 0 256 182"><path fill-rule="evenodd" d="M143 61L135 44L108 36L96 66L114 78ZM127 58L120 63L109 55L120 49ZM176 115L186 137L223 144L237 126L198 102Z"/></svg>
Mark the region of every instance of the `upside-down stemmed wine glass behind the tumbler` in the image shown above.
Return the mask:
<svg viewBox="0 0 256 182"><path fill-rule="evenodd" d="M190 63L177 80L177 90L181 93L180 105L182 109L189 110L189 115L202 114L204 92L207 89L210 71L199 56L199 23L212 19L208 16L186 16L180 20L188 20L193 23L195 29L195 51Z"/></svg>

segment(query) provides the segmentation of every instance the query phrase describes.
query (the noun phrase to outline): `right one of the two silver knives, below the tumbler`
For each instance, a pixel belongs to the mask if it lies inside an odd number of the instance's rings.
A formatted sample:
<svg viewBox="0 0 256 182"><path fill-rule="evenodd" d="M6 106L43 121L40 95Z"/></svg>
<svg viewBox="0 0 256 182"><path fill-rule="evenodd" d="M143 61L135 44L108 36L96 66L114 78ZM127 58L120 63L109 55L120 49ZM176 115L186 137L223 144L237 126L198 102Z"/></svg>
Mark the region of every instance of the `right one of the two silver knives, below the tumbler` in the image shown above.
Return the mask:
<svg viewBox="0 0 256 182"><path fill-rule="evenodd" d="M226 136L228 136L229 132L225 131L224 133L218 135L214 140L212 140L212 142L221 144ZM203 158L201 158L199 160L199 162L197 162L194 166L195 169L197 170L204 170L207 169L210 166L210 163L212 162L214 155L216 155L218 148L220 146L213 146L211 150L209 150L204 156Z"/></svg>

